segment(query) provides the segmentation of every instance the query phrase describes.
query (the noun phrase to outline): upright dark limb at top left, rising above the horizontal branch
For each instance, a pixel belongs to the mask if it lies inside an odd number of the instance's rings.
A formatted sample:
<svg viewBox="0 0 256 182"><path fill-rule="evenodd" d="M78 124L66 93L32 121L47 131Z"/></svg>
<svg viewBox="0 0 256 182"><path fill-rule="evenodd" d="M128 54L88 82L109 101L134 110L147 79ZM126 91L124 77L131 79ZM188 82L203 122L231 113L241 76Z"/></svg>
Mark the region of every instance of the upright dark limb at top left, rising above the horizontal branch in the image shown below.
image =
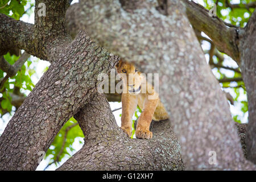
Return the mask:
<svg viewBox="0 0 256 182"><path fill-rule="evenodd" d="M35 48L40 50L44 59L55 61L63 46L71 42L71 37L65 32L65 13L69 6L68 0L35 1ZM45 14L42 8L46 7ZM40 6L41 5L41 6Z"/></svg>

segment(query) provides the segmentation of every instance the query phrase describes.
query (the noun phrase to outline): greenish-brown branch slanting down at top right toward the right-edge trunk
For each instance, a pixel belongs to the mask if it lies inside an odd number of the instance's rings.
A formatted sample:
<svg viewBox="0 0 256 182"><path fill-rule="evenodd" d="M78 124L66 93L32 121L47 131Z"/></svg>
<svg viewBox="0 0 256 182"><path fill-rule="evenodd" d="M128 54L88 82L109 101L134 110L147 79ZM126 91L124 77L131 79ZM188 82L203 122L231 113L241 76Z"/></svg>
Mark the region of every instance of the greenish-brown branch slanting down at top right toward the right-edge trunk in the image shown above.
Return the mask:
<svg viewBox="0 0 256 182"><path fill-rule="evenodd" d="M226 53L240 65L241 57L237 38L237 31L240 31L240 28L227 27L223 20L210 17L208 10L193 1L183 0L183 2L192 26L205 32L219 51Z"/></svg>

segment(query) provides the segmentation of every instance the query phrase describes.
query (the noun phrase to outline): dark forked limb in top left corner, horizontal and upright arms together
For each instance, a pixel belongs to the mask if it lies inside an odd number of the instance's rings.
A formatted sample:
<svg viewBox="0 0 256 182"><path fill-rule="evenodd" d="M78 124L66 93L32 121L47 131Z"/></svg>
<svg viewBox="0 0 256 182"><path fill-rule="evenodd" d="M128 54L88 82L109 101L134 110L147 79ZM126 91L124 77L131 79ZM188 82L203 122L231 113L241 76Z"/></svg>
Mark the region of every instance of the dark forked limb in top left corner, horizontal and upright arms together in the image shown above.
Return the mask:
<svg viewBox="0 0 256 182"><path fill-rule="evenodd" d="M44 6L39 4L43 3ZM36 1L35 26L0 15L0 55L5 55L11 48L24 49L27 53L43 60L60 59L63 46L71 42L65 33L65 11L69 3L61 1ZM46 14L42 11L45 10Z"/></svg>

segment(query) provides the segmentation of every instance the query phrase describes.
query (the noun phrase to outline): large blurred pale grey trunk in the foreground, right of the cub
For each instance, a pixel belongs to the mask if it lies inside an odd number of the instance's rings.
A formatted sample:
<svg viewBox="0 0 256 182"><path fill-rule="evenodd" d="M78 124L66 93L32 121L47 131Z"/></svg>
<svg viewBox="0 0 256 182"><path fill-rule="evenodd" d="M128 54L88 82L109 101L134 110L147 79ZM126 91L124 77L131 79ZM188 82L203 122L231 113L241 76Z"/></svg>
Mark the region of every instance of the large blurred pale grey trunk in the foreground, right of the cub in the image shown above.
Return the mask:
<svg viewBox="0 0 256 182"><path fill-rule="evenodd" d="M79 27L97 43L142 72L159 73L161 100L174 118L185 168L255 169L243 157L228 102L181 2L168 1L168 16L154 1L120 2L81 1L73 7L73 23L83 20ZM216 151L217 165L209 164L209 151Z"/></svg>

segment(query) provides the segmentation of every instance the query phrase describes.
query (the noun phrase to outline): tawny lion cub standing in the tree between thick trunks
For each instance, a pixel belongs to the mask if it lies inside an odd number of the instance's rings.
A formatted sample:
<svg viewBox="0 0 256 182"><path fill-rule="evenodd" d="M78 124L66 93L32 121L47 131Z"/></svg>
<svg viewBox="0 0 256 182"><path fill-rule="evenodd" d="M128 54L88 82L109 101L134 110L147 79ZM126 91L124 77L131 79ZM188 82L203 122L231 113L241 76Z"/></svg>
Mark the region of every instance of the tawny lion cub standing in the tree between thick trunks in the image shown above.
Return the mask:
<svg viewBox="0 0 256 182"><path fill-rule="evenodd" d="M115 67L123 81L121 129L131 137L131 118L139 105L142 113L135 131L136 138L152 138L152 132L149 130L152 119L160 121L169 118L158 93L133 64L120 60Z"/></svg>

